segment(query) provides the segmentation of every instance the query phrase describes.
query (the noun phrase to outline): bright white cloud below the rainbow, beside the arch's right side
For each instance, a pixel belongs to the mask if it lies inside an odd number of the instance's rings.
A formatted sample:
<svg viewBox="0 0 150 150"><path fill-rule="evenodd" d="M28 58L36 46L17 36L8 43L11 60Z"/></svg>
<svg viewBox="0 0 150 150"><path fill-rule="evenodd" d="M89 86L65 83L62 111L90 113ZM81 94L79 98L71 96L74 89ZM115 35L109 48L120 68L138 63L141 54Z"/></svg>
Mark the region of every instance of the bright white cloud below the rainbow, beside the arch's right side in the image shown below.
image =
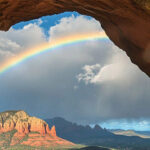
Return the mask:
<svg viewBox="0 0 150 150"><path fill-rule="evenodd" d="M133 65L126 54L120 51L117 47L112 46L114 53L107 64L85 65L84 73L80 73L78 81L84 81L86 84L105 84L105 82L115 82L122 84L122 81L132 81L133 76L136 76L138 68Z"/></svg>

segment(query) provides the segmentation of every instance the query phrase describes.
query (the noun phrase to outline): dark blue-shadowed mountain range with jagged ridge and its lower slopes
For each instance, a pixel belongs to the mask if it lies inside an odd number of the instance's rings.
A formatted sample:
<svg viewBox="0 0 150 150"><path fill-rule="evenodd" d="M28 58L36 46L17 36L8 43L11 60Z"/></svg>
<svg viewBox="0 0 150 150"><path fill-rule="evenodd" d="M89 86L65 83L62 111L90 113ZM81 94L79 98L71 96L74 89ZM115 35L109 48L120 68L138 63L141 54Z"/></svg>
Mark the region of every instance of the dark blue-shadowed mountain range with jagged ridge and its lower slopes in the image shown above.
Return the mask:
<svg viewBox="0 0 150 150"><path fill-rule="evenodd" d="M150 139L138 136L115 135L99 125L94 128L69 122L63 118L45 119L50 127L57 128L59 137L77 144L99 145L114 148L130 148L134 150L150 150Z"/></svg>

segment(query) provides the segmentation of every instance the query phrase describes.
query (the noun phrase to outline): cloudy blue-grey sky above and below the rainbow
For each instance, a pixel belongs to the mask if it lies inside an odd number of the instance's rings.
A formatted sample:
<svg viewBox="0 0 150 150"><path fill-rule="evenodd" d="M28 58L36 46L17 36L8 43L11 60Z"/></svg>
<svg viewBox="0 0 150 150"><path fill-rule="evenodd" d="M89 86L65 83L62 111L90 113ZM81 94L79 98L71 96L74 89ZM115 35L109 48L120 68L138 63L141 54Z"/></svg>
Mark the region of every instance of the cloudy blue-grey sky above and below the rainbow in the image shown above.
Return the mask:
<svg viewBox="0 0 150 150"><path fill-rule="evenodd" d="M104 32L76 12L42 17L0 31L0 64L31 47ZM37 55L0 75L0 111L64 117L105 128L149 130L150 78L110 40L91 40Z"/></svg>

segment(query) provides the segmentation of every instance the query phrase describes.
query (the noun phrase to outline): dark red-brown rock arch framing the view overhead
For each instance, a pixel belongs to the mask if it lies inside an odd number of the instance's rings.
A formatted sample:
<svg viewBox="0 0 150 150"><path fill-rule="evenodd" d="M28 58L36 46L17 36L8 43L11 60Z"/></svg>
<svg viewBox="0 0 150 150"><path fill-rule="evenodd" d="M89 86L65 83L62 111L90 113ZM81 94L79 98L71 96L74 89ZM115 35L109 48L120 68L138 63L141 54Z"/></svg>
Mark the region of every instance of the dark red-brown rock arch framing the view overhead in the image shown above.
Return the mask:
<svg viewBox="0 0 150 150"><path fill-rule="evenodd" d="M0 30L64 11L77 11L99 20L109 38L150 76L148 0L1 0Z"/></svg>

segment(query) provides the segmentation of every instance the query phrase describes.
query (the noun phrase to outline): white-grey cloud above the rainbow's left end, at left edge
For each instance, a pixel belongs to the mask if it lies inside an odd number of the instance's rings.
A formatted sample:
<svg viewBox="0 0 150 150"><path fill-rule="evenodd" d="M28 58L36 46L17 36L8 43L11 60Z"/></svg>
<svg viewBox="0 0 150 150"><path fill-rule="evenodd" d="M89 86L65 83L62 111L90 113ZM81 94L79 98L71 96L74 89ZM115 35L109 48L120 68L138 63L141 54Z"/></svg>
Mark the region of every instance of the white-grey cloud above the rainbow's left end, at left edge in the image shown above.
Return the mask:
<svg viewBox="0 0 150 150"><path fill-rule="evenodd" d="M38 23L28 24L23 29L11 28L8 32L0 31L0 62L10 59L21 51L27 50L46 41Z"/></svg>

